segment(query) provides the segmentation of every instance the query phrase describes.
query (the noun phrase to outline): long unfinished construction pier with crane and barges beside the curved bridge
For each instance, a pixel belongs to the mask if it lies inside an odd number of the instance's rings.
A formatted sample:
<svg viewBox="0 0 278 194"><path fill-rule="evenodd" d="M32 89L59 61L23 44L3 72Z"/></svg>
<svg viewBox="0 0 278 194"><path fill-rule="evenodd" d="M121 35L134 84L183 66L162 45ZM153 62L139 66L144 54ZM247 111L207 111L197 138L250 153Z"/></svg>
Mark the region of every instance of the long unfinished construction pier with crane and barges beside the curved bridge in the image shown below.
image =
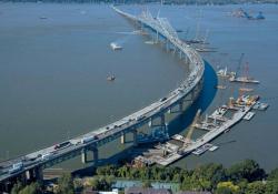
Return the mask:
<svg viewBox="0 0 278 194"><path fill-rule="evenodd" d="M242 95L237 100L230 99L228 105L218 108L211 115L206 115L205 121L199 121L200 110L191 124L191 129L187 136L176 134L171 136L166 143L155 145L155 149L149 150L148 153L135 159L135 162L145 163L146 165L159 164L167 166L190 153L201 155L206 151L215 151L218 146L210 144L214 139L222 133L228 132L235 124L240 122L255 105L266 108L268 104L260 103L258 95ZM264 104L264 105L261 105ZM259 106L258 105L258 106ZM259 109L258 109L259 110ZM261 109L262 110L262 109ZM264 109L266 110L266 109ZM228 112L232 115L226 116ZM248 114L246 119L252 115ZM202 136L197 140L191 140L192 129L206 130Z"/></svg>

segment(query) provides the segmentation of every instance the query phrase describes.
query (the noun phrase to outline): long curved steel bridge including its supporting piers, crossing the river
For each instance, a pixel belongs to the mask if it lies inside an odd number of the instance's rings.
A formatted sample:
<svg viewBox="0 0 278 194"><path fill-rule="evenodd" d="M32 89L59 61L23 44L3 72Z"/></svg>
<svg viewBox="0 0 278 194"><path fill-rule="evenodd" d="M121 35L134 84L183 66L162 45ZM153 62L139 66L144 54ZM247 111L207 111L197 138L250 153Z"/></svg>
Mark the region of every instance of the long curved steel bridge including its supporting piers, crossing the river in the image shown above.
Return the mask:
<svg viewBox="0 0 278 194"><path fill-rule="evenodd" d="M202 88L203 61L195 49L178 38L169 21L166 18L153 18L149 11L143 11L140 16L132 16L116 7L112 9L132 21L140 30L150 32L156 42L162 42L166 45L167 51L177 53L181 60L189 64L189 75L166 96L113 123L57 145L0 162L0 192L9 191L18 181L26 184L30 181L42 180L43 169L78 155L81 155L81 161L86 163L88 152L93 153L93 162L97 165L98 147L119 137L121 143L125 143L127 133L133 134L133 145L137 145L139 127L145 124L152 127L153 122L159 120L161 130L165 130L167 125L165 115L167 113L177 108L182 111L186 102L192 103L198 98Z"/></svg>

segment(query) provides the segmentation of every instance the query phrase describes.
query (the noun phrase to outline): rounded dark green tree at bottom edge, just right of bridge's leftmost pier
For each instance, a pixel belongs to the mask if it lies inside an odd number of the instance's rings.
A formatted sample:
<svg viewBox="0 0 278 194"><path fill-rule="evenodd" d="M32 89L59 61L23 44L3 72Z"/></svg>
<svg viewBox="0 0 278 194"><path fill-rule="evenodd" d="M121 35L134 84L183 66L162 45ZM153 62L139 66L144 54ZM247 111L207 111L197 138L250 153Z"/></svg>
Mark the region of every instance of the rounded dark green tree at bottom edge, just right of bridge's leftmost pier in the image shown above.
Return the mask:
<svg viewBox="0 0 278 194"><path fill-rule="evenodd" d="M70 173L62 174L61 177L58 178L58 194L73 194L73 180Z"/></svg>

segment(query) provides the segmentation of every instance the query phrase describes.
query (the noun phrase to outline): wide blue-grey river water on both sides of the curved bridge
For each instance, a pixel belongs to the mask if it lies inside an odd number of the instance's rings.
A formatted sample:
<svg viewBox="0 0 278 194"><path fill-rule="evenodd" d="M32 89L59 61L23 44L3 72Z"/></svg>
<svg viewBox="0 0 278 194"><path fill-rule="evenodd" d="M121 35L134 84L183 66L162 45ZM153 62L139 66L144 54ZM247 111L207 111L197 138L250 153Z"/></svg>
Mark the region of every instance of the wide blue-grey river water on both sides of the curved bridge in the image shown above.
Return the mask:
<svg viewBox="0 0 278 194"><path fill-rule="evenodd" d="M217 139L220 149L216 152L189 156L173 165L230 165L254 159L267 170L277 167L278 6L242 7L254 14L262 11L267 19L229 16L239 6L165 6L160 10L160 17L183 31L180 38L193 38L199 25L199 37L208 31L209 47L218 50L203 54L211 67L207 64L197 106L211 113L230 95L237 95L238 85L221 80L218 82L228 88L215 90L211 68L227 65L236 71L241 53L240 71L248 61L248 74L261 82L254 93L270 104L266 112L257 112L251 121L242 121ZM137 14L143 8L122 9ZM149 9L156 16L159 6ZM108 6L0 3L0 160L96 130L175 89L188 68L161 47L146 44L149 39L131 33L133 30ZM112 51L112 41L120 42L123 50ZM109 74L116 75L115 82L107 81ZM181 116L170 130L185 131L192 115ZM197 131L195 136L199 134ZM102 149L101 156L113 154L115 145L119 146L112 142ZM80 167L79 160L64 166Z"/></svg>

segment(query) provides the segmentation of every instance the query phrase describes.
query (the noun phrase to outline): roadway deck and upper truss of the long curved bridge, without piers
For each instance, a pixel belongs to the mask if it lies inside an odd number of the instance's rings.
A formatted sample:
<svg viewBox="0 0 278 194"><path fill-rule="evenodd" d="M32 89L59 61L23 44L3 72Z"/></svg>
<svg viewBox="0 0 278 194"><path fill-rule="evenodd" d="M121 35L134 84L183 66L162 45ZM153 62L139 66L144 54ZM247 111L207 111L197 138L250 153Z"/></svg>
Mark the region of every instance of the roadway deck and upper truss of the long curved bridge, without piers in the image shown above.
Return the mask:
<svg viewBox="0 0 278 194"><path fill-rule="evenodd" d="M109 142L109 139L117 137L122 133L126 133L129 131L132 131L133 129L142 125L143 123L148 122L151 118L158 116L163 114L168 109L177 104L179 101L185 99L193 89L195 86L200 82L203 75L203 61L200 58L200 55L195 51L192 48L190 48L188 44L182 42L176 31L171 28L170 23L167 19L162 18L152 18L150 13L143 12L141 16L132 16L129 13L126 13L115 7L112 7L115 11L120 13L121 16L137 21L141 22L145 25L148 25L152 30L157 31L160 35L165 37L167 40L169 40L178 50L180 50L183 54L186 54L189 59L190 65L192 67L192 70L189 74L189 76L182 81L182 83L179 85L179 88L171 91L167 96L165 96L165 100L158 100L150 105L123 118L119 121L116 121L111 124L108 124L106 126L102 126L98 130L91 131L87 134L83 134L81 136L75 137L69 140L69 146L57 150L54 146L49 146L42 150L38 150L36 152L19 156L13 160L3 161L0 163L0 182L16 176L19 173L22 173L23 171L28 171L30 169L44 165L47 163L51 163L54 160L58 160L59 157L64 157L64 155L69 154L78 154L81 152L82 149L88 146L100 146L107 142ZM85 137L88 136L97 136L93 141L90 141L88 143L83 142ZM51 157L42 160L41 155L51 153ZM11 169L12 164L22 161L23 162L23 169L20 172L17 173L9 173L9 169Z"/></svg>

